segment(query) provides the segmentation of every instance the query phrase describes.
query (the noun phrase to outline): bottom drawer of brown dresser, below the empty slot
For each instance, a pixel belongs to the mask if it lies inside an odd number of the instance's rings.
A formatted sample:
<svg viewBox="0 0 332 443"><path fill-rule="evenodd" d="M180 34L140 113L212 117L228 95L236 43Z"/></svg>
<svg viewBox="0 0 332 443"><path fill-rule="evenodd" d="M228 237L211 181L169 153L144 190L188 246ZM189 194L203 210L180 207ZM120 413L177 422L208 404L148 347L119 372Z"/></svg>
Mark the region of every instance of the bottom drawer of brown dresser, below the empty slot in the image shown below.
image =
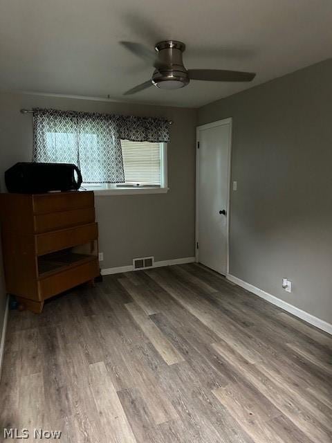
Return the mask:
<svg viewBox="0 0 332 443"><path fill-rule="evenodd" d="M66 269L55 275L39 280L39 295L42 300L71 289L78 284L88 282L99 275L98 258L94 257L91 262L79 264L75 268Z"/></svg>

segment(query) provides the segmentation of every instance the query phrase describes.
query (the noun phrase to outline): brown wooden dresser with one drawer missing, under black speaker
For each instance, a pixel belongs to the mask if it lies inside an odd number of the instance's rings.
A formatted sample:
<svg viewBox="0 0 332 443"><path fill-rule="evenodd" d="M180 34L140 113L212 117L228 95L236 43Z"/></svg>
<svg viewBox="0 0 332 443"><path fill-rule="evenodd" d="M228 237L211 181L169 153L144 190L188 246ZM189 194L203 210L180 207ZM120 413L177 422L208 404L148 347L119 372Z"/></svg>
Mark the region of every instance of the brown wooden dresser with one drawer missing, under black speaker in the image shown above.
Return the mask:
<svg viewBox="0 0 332 443"><path fill-rule="evenodd" d="M0 220L6 290L27 309L99 275L93 192L2 193Z"/></svg>

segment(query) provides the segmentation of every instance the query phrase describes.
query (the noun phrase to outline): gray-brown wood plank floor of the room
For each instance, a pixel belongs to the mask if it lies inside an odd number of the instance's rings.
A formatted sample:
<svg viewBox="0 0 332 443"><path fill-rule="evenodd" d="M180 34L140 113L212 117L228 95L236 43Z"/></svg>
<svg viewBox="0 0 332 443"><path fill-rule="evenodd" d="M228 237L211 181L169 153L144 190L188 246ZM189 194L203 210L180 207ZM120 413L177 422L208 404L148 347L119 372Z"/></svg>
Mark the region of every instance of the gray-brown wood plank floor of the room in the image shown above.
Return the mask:
<svg viewBox="0 0 332 443"><path fill-rule="evenodd" d="M109 275L10 312L0 425L65 443L331 443L331 348L199 264Z"/></svg>

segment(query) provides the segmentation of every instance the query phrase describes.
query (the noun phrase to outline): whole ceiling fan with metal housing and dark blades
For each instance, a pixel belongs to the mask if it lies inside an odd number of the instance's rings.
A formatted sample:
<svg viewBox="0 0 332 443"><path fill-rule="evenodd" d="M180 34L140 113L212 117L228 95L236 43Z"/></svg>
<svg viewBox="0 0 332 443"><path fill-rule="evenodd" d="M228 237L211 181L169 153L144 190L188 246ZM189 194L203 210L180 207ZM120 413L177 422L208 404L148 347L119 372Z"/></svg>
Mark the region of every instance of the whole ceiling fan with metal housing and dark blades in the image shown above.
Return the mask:
<svg viewBox="0 0 332 443"><path fill-rule="evenodd" d="M154 85L160 89L178 89L187 86L190 80L208 82L251 82L255 73L241 71L225 71L224 69L185 69L182 53L185 44L176 40L165 40L155 46L155 53L142 44L120 42L132 53L142 57L154 66L152 78L129 89L124 95L134 94Z"/></svg>

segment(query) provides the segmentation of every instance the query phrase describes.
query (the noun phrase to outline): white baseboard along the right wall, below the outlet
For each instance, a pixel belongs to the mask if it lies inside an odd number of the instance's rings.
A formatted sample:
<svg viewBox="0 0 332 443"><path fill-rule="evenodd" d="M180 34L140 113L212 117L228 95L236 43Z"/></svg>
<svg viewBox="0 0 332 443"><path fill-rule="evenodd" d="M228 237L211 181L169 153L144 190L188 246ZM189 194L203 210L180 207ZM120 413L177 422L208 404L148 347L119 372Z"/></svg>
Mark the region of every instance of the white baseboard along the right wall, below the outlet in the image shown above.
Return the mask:
<svg viewBox="0 0 332 443"><path fill-rule="evenodd" d="M294 316L301 318L302 320L306 321L307 323L310 323L311 325L318 327L319 329L322 329L323 331L327 332L328 334L332 334L332 325L330 323L327 323L326 321L321 320L320 318L315 317L306 311L302 311L302 309L299 309L298 307L290 305L289 303L284 302L284 300L281 300L280 298L272 296L270 293L255 287L253 284L244 282L243 280L235 277L234 275L227 274L226 278L228 280L230 280L230 282L238 284L243 289L247 289L247 291L255 293L256 296L264 298L264 300L267 300L268 302L273 303L273 305L281 307L285 311L290 312Z"/></svg>

